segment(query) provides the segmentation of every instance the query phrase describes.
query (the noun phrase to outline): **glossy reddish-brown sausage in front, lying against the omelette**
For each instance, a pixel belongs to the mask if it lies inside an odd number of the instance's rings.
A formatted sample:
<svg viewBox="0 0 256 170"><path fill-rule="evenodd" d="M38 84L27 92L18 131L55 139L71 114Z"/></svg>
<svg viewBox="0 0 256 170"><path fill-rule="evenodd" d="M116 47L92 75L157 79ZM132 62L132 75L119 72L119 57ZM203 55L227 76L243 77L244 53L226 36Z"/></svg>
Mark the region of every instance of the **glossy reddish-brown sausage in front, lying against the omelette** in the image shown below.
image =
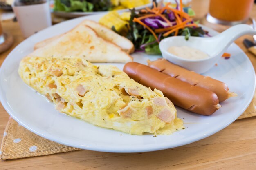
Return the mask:
<svg viewBox="0 0 256 170"><path fill-rule="evenodd" d="M211 115L220 108L218 97L212 91L193 86L137 62L128 62L124 72L136 82L157 88L173 104L200 115Z"/></svg>

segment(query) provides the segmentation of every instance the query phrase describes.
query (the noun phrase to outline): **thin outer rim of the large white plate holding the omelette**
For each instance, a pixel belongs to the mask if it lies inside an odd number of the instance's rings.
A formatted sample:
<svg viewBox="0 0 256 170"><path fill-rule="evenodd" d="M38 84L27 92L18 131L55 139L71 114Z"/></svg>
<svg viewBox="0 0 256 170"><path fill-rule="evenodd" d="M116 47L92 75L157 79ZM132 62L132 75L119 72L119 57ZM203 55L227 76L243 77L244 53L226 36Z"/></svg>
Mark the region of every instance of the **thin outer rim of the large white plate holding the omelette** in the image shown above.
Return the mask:
<svg viewBox="0 0 256 170"><path fill-rule="evenodd" d="M99 15L102 15L102 14L99 14ZM94 15L94 16L96 16L96 15ZM90 18L90 16L83 16L83 17L79 17L79 18L72 19L72 20L82 20L82 18L86 19L86 18ZM65 21L65 22L72 22L72 20L67 20L67 21ZM74 22L74 21L73 21L73 22ZM63 22L61 22L61 23L63 23ZM61 23L59 23L59 24L61 24ZM57 25L57 24L56 24L56 25ZM51 26L51 27L52 27L52 26ZM51 29L51 27L48 27L47 29ZM215 30L213 30L213 29L211 29L211 28L208 28L207 26L203 26L203 27L207 28L208 30L217 32L217 31L215 31ZM44 30L45 30L45 29L44 29ZM42 31L43 31L43 30L42 30ZM39 31L39 32L41 32L41 31ZM39 32L38 32L38 33L39 33ZM217 32L217 33L218 33L218 32ZM20 42L20 44L22 44L22 43L24 43L24 42L26 42L26 41L29 41L29 40L31 39L31 37L33 37L33 36L34 36L34 35L32 35L32 36L30 36L29 38L23 40L22 42ZM4 62L2 63L2 65L1 65L1 67L0 67L0 77L2 77L1 75L3 74L3 73L2 73L2 70L3 70L2 67L5 65L6 62L8 62L8 60L11 59L10 56L12 55L12 53L14 53L14 51L16 51L16 50L19 48L20 44L18 44L18 45L7 55L7 57L5 58ZM234 44L234 43L233 43L233 44ZM246 58L246 60L249 61L249 66L251 67L252 70L254 70L254 67L253 67L253 65L252 65L252 62L249 60L249 58L248 58L248 56L245 54L245 52L244 52L238 45L234 44L234 46L235 46L236 48L238 48L238 50L239 50L241 53L243 53L243 55L246 56L245 58ZM14 119L15 121L17 121L20 125L22 125L23 127L25 127L26 129L28 129L29 131L31 131L31 132L33 132L33 133L35 133L35 134L37 134L37 135L39 135L39 136L41 136L41 137L44 137L44 138L46 138L46 139L55 141L55 142L57 142L57 143L64 144L64 145L67 145L67 146L76 147L76 148L87 149L87 150L94 150L94 151L101 151L101 152L118 152L118 153L149 152L149 151L155 151L155 150L164 150L164 149L168 149L168 148L175 148L175 147L178 147L178 146L183 146L183 145L186 145L186 144L190 144L190 143L193 143L193 142L195 142L195 141L199 141L199 140L201 140L201 139L204 139L204 138L206 138L206 137L209 137L209 136L211 136L211 135L213 135L213 134L219 132L220 130L226 128L227 126L229 126L229 124L231 124L232 122L234 122L234 121L245 111L245 109L249 106L249 104L251 103L251 101L252 101L252 99L253 99L253 97L254 97L255 86L256 86L255 71L253 71L253 75L254 75L254 81L253 81L253 83L254 83L254 89L253 89L252 95L251 95L250 97L248 97L250 102L248 102L248 103L243 107L243 109L241 110L241 113L236 114L236 116L235 116L234 119L232 119L231 121L227 122L224 126L220 126L220 127L218 127L218 128L215 128L215 130L212 130L211 132L209 132L209 133L207 133L207 134L205 134L205 135L203 135L203 136L200 135L200 137L194 137L193 139L191 139L191 140L189 140L189 141L188 141L188 140L185 140L185 141L183 141L183 142L179 142L179 143L176 144L175 146L166 145L166 144L164 144L164 145L162 144L162 145L159 145L159 146L157 146L157 147L154 146L153 149L150 148L150 144L146 144L145 146L147 146L147 147L143 147L143 148L131 150L131 149L126 149L126 148L118 148L118 147L116 147L115 149L113 149L113 148L111 148L111 147L110 147L110 148L106 148L106 147L104 147L104 146L85 146L85 145L84 145L84 146L80 146L80 145L78 146L78 145L75 145L75 144L70 144L70 143L68 143L68 142L63 142L63 141L58 140L57 138L54 138L53 135L49 135L49 134L48 134L48 135L45 136L44 134L41 134L40 132L37 132L36 130L30 128L29 126L27 126L26 124L23 124L20 120L18 120L18 119L16 118L15 114L13 115L12 109L11 109L11 107L9 106L8 102L7 102L6 100L4 100L2 90L0 90L0 102L2 103L2 106L3 106L4 109L7 111L7 113L9 113L9 115L10 115L11 117L13 117L13 119ZM13 112L14 112L14 111L13 111Z"/></svg>

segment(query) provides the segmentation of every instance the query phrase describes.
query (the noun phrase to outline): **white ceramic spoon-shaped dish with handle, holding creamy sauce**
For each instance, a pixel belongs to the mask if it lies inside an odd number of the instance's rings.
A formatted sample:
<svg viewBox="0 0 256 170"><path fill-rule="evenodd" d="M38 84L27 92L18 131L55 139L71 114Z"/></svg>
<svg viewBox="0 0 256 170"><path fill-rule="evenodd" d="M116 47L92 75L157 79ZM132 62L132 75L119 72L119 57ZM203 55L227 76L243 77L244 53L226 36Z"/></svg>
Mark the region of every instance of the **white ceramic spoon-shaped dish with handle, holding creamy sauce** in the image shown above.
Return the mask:
<svg viewBox="0 0 256 170"><path fill-rule="evenodd" d="M208 71L220 60L224 51L234 40L246 34L256 35L256 31L247 24L239 24L209 38L191 36L189 40L185 40L184 36L168 37L160 42L159 48L166 60L201 74ZM189 46L207 53L209 57L199 60L177 57L168 52L168 48L171 46Z"/></svg>

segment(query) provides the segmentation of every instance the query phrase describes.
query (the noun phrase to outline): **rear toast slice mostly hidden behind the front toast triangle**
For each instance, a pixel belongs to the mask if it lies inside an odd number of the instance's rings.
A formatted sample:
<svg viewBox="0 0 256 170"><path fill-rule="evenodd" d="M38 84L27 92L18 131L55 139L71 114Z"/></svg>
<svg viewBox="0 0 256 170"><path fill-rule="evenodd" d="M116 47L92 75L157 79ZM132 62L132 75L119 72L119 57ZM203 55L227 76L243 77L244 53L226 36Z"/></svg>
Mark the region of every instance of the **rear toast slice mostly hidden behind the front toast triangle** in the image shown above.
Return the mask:
<svg viewBox="0 0 256 170"><path fill-rule="evenodd" d="M79 25L90 26L101 38L108 40L108 41L116 44L117 46L120 46L123 51L125 51L129 54L134 52L134 45L132 44L132 42L130 40L115 33L114 31L107 28L106 26L103 26L103 25L101 25L97 22L94 22L92 20L84 20ZM49 42L56 40L59 37L60 37L60 35L57 35L55 37L38 42L35 44L34 49L43 47L46 44L48 44Z"/></svg>

